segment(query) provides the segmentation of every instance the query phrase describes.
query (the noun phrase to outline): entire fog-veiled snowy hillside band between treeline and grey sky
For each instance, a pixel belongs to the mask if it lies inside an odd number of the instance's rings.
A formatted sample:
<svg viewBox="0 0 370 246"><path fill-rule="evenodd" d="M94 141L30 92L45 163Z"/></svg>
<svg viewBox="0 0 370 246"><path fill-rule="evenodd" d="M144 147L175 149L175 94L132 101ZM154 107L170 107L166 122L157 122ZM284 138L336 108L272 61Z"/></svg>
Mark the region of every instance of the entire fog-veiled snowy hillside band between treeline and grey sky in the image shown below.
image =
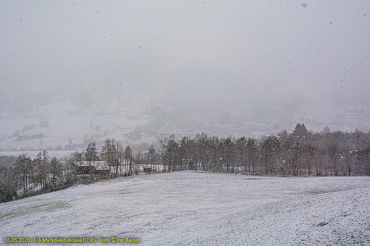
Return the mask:
<svg viewBox="0 0 370 246"><path fill-rule="evenodd" d="M332 104L303 104L279 120L279 111L265 113L259 119L253 112L242 114L230 111L218 119L186 118L175 112L176 108L165 105L155 109L129 105L115 109L83 109L77 105L59 101L46 106L34 107L22 113L7 112L0 119L0 150L59 150L57 156L81 150L89 142L101 146L105 139L115 138L124 144L140 144L158 141L175 134L176 137L194 137L199 132L208 135L256 136L276 134L281 129L292 131L296 122L306 122L315 131L329 126L331 129L353 131L355 128L369 129L370 112L365 105L345 107ZM280 111L282 114L284 110ZM349 121L346 115L351 114ZM274 115L277 115L274 118ZM191 122L190 122L191 121ZM67 151L62 151L67 150ZM16 153L16 152L14 152ZM18 152L17 152L18 153ZM30 152L33 153L33 152ZM36 153L36 152L35 152Z"/></svg>

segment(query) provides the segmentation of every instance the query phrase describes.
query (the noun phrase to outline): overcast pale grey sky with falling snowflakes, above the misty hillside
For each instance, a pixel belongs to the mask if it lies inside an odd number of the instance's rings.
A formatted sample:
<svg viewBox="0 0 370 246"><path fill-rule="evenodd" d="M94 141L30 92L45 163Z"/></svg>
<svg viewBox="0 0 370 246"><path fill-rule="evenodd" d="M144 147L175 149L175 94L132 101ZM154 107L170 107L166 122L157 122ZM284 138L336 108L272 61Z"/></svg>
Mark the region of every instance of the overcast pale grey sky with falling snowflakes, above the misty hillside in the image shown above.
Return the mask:
<svg viewBox="0 0 370 246"><path fill-rule="evenodd" d="M1 1L1 101L369 104L370 1L305 3Z"/></svg>

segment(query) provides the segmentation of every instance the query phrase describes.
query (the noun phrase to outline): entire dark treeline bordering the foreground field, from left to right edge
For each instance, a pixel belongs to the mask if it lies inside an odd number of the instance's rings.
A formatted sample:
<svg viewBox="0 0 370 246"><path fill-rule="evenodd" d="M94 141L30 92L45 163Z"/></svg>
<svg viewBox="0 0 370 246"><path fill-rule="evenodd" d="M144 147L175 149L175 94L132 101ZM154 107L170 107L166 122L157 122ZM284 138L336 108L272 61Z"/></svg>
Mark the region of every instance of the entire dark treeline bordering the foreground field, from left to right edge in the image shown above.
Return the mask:
<svg viewBox="0 0 370 246"><path fill-rule="evenodd" d="M103 163L109 175L81 173L81 167ZM261 139L218 138L197 134L175 139L174 135L136 151L115 139L107 139L100 151L89 143L82 152L57 159L46 150L31 159L26 154L0 157L0 202L61 190L75 184L138 174L141 167L154 172L202 170L269 176L370 176L370 134L358 131L307 131L297 124ZM90 169L88 169L90 170Z"/></svg>

